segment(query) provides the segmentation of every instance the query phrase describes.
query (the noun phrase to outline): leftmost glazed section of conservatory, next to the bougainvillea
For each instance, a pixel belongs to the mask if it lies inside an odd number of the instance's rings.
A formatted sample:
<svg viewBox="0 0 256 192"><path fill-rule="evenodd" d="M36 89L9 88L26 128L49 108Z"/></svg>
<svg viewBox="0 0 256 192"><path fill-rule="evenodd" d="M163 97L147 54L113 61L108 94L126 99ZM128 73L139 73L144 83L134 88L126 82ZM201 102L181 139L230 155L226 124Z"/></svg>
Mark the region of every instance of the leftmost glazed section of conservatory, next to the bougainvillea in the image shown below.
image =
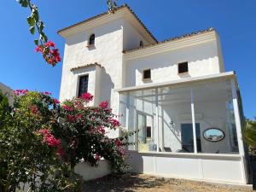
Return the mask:
<svg viewBox="0 0 256 192"><path fill-rule="evenodd" d="M129 149L155 151L157 148L155 89L131 91L129 96L122 93L120 111L123 114L120 118L122 125L128 125L126 127L128 131L137 131L135 135L129 137L129 142L136 143ZM129 111L129 115L127 115L127 111Z"/></svg>

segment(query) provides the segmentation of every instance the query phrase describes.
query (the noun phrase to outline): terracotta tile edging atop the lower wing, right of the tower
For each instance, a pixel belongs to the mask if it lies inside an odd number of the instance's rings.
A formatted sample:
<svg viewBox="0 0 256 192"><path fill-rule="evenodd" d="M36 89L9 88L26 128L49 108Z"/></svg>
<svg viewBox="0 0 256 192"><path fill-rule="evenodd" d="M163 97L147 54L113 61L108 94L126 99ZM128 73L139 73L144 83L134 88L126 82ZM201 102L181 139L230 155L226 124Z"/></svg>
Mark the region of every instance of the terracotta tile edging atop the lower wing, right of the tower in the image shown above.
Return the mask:
<svg viewBox="0 0 256 192"><path fill-rule="evenodd" d="M158 45L158 44L165 44L167 42L171 42L171 41L175 41L175 40L179 40L179 39L182 39L182 38L189 38L189 37L193 37L195 35L199 35L199 34L203 34L203 33L207 33L207 32L214 32L215 29L214 28L208 28L206 30L201 30L201 31L198 31L198 32L191 32L189 34L185 34L185 35L182 35L182 36L178 36L178 37L175 37L175 38L168 38L166 40L163 40L163 41L159 41L157 43L154 43L154 44L148 44L148 45L145 45L143 47L137 47L135 49L127 49L127 50L123 50L123 53L130 53L130 52L133 52L133 51L136 51L138 49L145 49L145 48L148 48L148 47L153 47L154 45Z"/></svg>

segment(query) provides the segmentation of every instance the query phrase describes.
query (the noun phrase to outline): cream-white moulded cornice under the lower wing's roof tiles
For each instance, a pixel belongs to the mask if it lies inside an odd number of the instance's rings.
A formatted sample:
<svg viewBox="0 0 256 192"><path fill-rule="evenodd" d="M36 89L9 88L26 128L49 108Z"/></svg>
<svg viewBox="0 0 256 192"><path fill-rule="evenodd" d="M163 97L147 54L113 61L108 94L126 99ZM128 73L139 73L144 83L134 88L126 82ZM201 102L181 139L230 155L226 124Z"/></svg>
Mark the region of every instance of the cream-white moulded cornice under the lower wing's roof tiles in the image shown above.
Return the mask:
<svg viewBox="0 0 256 192"><path fill-rule="evenodd" d="M178 38L171 41L166 41L160 44L153 44L143 49L131 50L123 55L124 61L141 58L148 55L160 54L166 51L181 49L196 44L205 44L207 42L216 41L216 32L206 32L203 34L194 35L191 37Z"/></svg>

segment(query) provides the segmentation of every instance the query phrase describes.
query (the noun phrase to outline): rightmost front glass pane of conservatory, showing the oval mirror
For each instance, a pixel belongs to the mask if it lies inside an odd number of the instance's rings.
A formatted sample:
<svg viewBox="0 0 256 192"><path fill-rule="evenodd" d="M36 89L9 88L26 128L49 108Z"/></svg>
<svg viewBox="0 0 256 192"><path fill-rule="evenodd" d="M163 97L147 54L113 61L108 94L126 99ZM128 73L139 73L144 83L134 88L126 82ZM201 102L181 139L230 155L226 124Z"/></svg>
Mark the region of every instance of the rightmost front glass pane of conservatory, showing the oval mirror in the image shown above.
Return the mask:
<svg viewBox="0 0 256 192"><path fill-rule="evenodd" d="M191 89L195 104L195 122L201 126L201 152L238 153L230 80L207 81L195 84ZM207 130L209 131L205 132Z"/></svg>

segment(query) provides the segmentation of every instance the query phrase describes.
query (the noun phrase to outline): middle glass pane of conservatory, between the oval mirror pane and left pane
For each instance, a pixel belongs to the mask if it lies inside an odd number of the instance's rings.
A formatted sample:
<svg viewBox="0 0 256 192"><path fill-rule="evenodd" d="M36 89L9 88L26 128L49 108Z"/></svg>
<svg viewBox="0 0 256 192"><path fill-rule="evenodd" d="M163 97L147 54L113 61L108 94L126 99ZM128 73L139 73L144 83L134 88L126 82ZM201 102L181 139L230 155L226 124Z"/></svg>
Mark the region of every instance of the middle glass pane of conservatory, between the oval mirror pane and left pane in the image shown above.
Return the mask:
<svg viewBox="0 0 256 192"><path fill-rule="evenodd" d="M194 137L189 86L159 89L160 151L193 153Z"/></svg>

